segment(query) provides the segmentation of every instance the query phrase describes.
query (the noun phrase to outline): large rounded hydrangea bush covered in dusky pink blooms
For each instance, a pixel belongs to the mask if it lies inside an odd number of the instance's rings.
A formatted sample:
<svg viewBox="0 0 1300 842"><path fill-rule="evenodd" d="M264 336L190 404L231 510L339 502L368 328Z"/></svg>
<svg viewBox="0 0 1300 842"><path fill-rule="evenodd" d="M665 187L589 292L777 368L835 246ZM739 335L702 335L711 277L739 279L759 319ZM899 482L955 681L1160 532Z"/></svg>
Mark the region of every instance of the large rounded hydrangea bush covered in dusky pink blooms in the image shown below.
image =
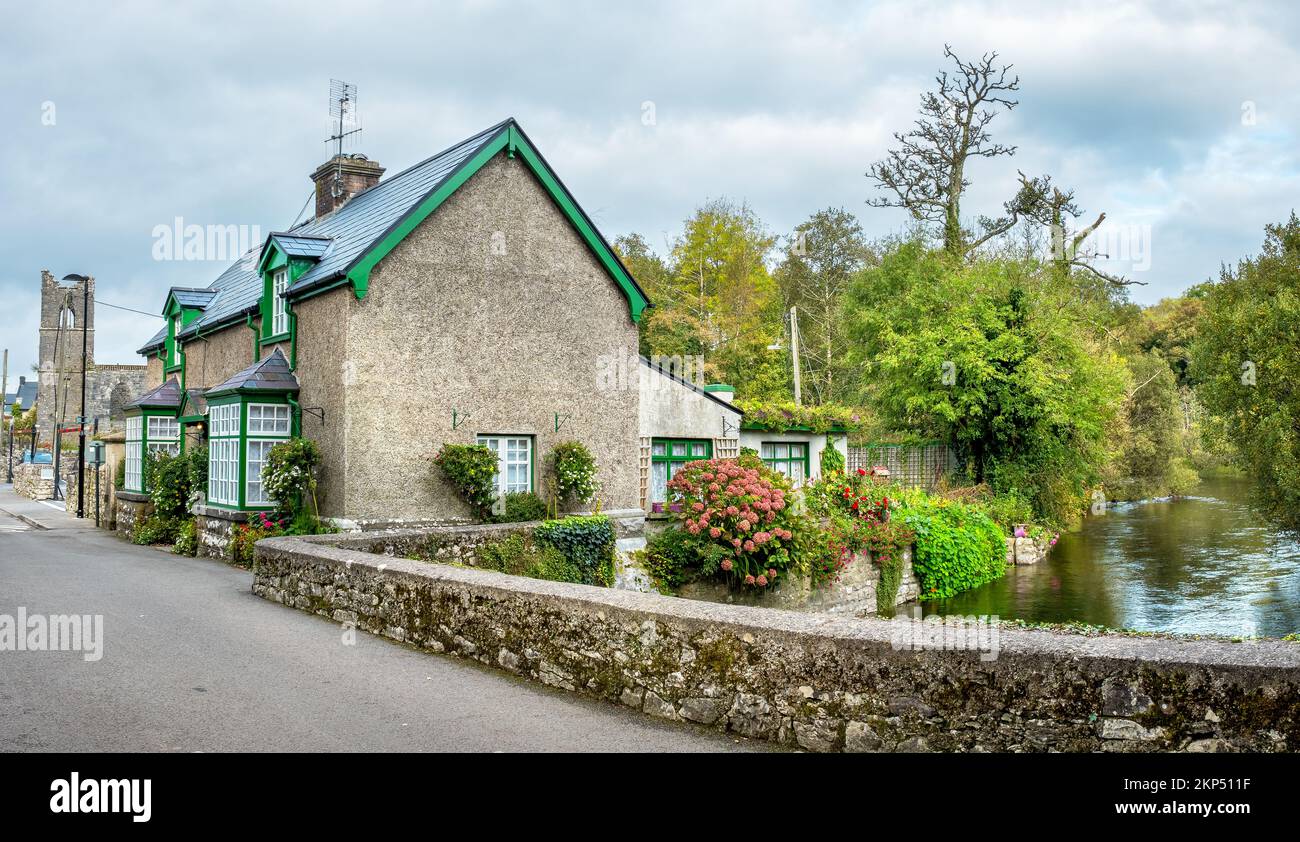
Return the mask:
<svg viewBox="0 0 1300 842"><path fill-rule="evenodd" d="M786 504L789 482L755 460L711 459L684 465L668 482L682 504L682 529L729 551L719 564L746 586L767 587L788 572L796 531L803 524Z"/></svg>

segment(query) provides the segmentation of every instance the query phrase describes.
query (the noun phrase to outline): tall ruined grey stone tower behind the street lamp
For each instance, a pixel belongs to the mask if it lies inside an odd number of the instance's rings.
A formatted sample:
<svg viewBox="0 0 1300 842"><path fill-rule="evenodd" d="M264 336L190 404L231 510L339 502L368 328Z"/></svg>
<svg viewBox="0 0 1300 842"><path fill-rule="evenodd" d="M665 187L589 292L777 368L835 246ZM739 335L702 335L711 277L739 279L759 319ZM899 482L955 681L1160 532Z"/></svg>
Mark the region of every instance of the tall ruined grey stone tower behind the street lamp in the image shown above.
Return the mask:
<svg viewBox="0 0 1300 842"><path fill-rule="evenodd" d="M88 312L84 307L87 291ZM77 422L77 416L84 415L81 405L82 326L86 327L87 370L91 370L95 360L95 278L64 283L42 269L40 385L36 390L36 424L42 440L53 438L57 421L70 426Z"/></svg>

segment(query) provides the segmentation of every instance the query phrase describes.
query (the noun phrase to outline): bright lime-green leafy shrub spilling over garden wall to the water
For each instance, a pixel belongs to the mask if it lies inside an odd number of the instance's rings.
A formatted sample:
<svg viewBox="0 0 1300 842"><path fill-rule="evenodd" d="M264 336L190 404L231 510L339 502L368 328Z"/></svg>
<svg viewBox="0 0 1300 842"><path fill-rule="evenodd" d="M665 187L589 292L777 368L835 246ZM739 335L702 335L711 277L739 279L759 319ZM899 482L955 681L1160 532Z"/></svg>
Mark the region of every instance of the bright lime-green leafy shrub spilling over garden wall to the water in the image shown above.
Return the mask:
<svg viewBox="0 0 1300 842"><path fill-rule="evenodd" d="M915 533L913 569L923 600L945 599L1006 573L1006 541L984 512L932 499L901 509L898 517Z"/></svg>

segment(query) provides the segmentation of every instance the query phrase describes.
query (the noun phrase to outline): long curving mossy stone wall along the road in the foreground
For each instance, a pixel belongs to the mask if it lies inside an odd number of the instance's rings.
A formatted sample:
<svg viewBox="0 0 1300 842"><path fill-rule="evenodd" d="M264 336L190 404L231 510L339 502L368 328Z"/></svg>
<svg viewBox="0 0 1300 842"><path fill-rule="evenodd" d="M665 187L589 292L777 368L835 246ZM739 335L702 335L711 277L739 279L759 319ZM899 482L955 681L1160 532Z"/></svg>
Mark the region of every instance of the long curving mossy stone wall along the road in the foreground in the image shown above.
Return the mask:
<svg viewBox="0 0 1300 842"><path fill-rule="evenodd" d="M272 538L254 593L432 652L811 751L1294 751L1300 646L1002 629L994 660L887 620L412 561L416 533ZM378 550L365 552L363 550Z"/></svg>

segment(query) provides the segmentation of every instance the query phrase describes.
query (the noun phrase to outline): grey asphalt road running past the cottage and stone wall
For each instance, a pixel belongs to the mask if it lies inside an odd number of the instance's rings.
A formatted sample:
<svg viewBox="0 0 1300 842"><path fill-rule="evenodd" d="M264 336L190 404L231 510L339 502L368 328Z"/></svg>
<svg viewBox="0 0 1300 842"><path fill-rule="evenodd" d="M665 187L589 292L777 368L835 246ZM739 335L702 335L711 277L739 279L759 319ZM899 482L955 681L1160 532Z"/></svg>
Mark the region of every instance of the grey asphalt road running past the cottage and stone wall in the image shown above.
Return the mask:
<svg viewBox="0 0 1300 842"><path fill-rule="evenodd" d="M346 646L251 580L0 512L0 615L104 617L99 661L0 651L0 751L763 750L364 633Z"/></svg>

